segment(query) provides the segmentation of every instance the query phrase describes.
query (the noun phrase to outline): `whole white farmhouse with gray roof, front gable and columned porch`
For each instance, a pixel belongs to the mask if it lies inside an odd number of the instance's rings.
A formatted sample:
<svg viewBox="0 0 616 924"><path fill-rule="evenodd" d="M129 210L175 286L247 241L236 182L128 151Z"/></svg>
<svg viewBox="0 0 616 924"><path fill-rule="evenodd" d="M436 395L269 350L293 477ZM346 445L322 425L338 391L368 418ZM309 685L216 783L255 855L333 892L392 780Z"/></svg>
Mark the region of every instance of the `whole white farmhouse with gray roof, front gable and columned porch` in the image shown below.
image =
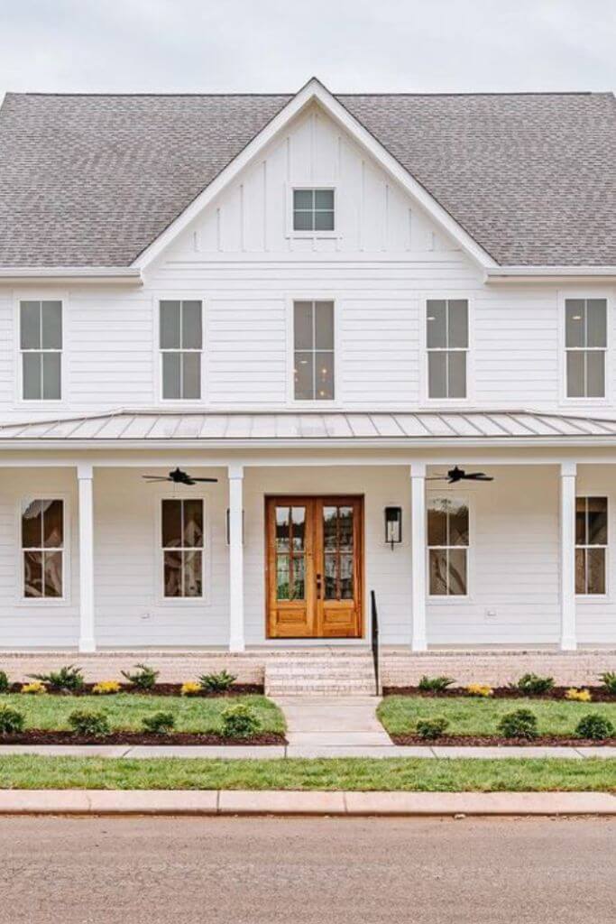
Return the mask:
<svg viewBox="0 0 616 924"><path fill-rule="evenodd" d="M593 678L615 294L611 93L9 93L0 662Z"/></svg>

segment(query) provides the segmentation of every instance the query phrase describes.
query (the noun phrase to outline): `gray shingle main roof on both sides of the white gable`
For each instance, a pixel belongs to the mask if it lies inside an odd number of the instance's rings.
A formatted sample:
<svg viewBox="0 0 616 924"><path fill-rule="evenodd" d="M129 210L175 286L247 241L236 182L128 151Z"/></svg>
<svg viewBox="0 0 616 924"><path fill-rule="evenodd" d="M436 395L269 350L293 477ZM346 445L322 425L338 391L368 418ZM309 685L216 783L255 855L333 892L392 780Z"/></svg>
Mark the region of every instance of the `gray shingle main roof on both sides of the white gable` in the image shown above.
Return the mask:
<svg viewBox="0 0 616 924"><path fill-rule="evenodd" d="M8 93L0 266L123 266L290 95ZM338 100L502 264L616 265L612 93Z"/></svg>

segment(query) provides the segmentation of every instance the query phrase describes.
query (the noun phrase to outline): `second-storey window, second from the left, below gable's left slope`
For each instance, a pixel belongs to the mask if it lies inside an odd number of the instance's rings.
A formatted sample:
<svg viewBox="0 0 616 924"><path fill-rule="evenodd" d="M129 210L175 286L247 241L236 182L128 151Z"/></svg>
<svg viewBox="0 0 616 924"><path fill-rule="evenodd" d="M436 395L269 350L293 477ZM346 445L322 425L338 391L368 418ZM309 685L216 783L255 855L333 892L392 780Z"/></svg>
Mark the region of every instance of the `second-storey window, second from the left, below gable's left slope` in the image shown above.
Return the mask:
<svg viewBox="0 0 616 924"><path fill-rule="evenodd" d="M200 301L162 301L160 311L163 399L196 400L201 396L203 348Z"/></svg>

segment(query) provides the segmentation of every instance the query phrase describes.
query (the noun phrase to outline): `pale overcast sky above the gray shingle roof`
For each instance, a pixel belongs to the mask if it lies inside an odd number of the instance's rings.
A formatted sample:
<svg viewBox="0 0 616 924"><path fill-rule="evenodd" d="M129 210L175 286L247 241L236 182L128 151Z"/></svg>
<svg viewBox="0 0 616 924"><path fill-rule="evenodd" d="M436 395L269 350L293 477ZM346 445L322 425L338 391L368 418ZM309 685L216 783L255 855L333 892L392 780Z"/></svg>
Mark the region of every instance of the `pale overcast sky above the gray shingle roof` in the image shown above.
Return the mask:
<svg viewBox="0 0 616 924"><path fill-rule="evenodd" d="M0 0L11 91L613 90L614 0Z"/></svg>

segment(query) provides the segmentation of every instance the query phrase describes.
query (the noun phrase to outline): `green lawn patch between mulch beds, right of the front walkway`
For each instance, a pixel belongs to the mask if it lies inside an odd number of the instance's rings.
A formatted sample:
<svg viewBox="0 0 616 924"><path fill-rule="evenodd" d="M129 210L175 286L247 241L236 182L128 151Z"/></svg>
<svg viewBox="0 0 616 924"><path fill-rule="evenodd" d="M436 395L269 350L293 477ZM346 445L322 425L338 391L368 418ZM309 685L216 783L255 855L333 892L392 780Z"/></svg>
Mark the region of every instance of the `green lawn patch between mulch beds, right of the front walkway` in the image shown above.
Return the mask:
<svg viewBox="0 0 616 924"><path fill-rule="evenodd" d="M562 699L388 696L380 702L377 714L392 735L407 735L415 731L417 719L436 715L449 719L448 735L496 735L501 716L522 708L533 711L537 716L539 735L573 735L575 725L588 712L601 712L616 727L616 702L569 702Z"/></svg>

